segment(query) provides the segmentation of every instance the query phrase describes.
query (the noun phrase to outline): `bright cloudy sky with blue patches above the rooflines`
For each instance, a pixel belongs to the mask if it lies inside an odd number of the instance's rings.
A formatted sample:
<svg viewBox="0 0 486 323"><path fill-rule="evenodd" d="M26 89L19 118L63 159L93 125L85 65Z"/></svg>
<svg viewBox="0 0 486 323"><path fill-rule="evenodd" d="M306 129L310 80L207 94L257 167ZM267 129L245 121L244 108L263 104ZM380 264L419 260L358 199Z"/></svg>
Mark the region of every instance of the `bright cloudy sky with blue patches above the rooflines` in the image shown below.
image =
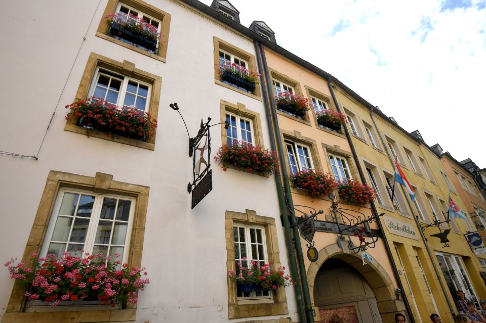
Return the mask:
<svg viewBox="0 0 486 323"><path fill-rule="evenodd" d="M230 3L429 146L486 167L486 0Z"/></svg>

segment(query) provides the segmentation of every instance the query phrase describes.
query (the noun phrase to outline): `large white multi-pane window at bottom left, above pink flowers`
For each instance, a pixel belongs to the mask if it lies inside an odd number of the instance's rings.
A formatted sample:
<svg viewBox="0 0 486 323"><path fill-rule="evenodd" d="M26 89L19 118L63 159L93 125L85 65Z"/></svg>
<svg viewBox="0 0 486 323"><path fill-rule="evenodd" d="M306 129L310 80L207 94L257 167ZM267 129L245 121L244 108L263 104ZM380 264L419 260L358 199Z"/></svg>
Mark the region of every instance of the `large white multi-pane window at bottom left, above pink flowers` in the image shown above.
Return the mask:
<svg viewBox="0 0 486 323"><path fill-rule="evenodd" d="M42 256L63 252L80 256L81 251L128 258L135 200L62 189L41 251Z"/></svg>

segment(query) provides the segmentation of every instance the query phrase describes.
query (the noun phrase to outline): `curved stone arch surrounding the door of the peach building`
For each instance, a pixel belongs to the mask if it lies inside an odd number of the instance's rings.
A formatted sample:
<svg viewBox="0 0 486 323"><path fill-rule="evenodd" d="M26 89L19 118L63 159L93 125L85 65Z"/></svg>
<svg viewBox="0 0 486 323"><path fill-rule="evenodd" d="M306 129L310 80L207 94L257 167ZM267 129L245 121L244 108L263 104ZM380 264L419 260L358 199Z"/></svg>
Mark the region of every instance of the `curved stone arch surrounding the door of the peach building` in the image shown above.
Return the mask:
<svg viewBox="0 0 486 323"><path fill-rule="evenodd" d="M396 287L385 269L377 262L374 264L367 263L367 265L363 265L361 259L362 251L358 253L346 253L343 250L345 249L341 248L337 243L322 248L318 253L319 256L317 261L312 262L307 269L307 284L309 286L312 306L314 306L314 283L319 268L326 262L326 260L337 258L356 269L368 282L375 294L377 307L384 322L394 321L396 312L406 313L403 301L401 299L396 299Z"/></svg>

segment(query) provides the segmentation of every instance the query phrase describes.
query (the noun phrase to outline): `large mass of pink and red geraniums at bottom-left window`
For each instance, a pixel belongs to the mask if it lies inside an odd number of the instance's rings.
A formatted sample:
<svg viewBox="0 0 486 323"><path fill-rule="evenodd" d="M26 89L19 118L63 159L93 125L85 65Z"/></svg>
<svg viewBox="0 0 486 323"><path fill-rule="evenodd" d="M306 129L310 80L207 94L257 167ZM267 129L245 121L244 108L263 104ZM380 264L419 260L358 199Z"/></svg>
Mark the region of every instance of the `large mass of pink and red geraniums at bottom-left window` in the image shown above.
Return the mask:
<svg viewBox="0 0 486 323"><path fill-rule="evenodd" d="M50 254L46 258L37 259L38 254L32 254L32 265L24 262L15 263L11 259L5 263L10 277L15 279L27 291L25 296L30 300L52 302L57 306L63 301L98 300L105 305L137 304L138 291L143 291L150 283L145 278L147 272L142 267L128 267L126 263L120 266L116 260L103 255L85 254L85 258L74 257L64 252L61 257ZM108 264L105 264L105 260Z"/></svg>

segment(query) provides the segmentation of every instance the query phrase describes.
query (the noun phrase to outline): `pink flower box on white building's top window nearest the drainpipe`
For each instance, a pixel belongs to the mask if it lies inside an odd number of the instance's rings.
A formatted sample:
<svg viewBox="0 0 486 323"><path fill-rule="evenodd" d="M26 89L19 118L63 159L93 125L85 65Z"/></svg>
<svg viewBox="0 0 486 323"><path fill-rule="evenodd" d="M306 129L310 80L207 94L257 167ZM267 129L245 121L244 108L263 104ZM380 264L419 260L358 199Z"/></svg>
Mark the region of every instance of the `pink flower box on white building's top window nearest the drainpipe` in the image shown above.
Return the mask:
<svg viewBox="0 0 486 323"><path fill-rule="evenodd" d="M219 66L219 77L222 81L253 92L259 83L260 73L251 71L244 66L225 61Z"/></svg>

